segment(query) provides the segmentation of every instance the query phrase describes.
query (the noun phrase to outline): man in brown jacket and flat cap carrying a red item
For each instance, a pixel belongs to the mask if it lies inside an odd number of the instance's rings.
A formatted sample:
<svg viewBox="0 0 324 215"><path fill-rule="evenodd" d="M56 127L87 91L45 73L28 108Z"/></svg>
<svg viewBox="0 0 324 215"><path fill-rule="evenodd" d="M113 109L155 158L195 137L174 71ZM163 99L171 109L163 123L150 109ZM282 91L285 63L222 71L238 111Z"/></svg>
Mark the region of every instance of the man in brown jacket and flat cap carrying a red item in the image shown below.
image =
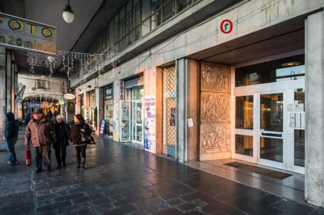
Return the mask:
<svg viewBox="0 0 324 215"><path fill-rule="evenodd" d="M51 145L57 142L55 126L52 120L43 115L43 110L36 108L32 113L33 120L29 121L25 132L25 145L30 141L35 151L36 173L44 168L51 172Z"/></svg>

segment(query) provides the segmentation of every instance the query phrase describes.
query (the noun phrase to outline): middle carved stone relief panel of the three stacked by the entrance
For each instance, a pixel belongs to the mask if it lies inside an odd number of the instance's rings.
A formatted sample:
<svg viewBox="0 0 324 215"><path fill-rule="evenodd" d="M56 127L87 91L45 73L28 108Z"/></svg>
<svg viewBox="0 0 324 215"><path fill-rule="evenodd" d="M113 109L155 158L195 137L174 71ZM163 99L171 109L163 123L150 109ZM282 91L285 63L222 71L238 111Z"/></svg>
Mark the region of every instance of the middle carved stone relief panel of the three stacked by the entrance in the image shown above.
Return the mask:
<svg viewBox="0 0 324 215"><path fill-rule="evenodd" d="M230 122L230 94L201 93L202 123Z"/></svg>

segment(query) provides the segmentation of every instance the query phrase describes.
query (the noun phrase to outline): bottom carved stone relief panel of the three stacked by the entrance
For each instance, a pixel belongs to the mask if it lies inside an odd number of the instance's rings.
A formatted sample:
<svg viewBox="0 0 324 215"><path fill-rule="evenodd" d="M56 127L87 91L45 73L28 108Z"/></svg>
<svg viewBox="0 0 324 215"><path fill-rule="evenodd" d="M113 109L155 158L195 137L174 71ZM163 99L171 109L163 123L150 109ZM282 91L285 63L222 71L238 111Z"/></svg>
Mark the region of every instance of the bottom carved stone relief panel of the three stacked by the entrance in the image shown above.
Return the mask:
<svg viewBox="0 0 324 215"><path fill-rule="evenodd" d="M230 151L231 127L229 124L201 125L201 153Z"/></svg>

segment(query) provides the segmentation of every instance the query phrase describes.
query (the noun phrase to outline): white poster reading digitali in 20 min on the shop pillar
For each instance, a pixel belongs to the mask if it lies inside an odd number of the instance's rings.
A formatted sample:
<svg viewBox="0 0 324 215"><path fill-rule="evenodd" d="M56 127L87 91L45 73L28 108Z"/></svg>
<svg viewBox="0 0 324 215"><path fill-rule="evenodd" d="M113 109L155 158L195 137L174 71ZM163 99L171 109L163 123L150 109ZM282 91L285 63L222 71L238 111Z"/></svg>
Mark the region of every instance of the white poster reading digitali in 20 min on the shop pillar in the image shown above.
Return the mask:
<svg viewBox="0 0 324 215"><path fill-rule="evenodd" d="M146 95L144 149L155 153L155 95Z"/></svg>

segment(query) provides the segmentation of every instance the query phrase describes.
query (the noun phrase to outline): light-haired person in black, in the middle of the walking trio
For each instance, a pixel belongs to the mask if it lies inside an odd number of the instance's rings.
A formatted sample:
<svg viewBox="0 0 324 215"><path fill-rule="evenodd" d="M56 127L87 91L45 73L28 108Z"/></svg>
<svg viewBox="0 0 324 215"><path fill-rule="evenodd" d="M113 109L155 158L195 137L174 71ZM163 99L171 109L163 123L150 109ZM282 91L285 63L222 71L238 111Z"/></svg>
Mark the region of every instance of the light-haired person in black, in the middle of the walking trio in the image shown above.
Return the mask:
<svg viewBox="0 0 324 215"><path fill-rule="evenodd" d="M62 162L63 162L63 167L66 166L65 157L66 157L66 146L69 145L69 137L68 137L69 130L70 130L70 126L64 123L63 115L57 115L56 122L55 122L55 131L56 131L58 141L56 144L53 144L53 148L55 149L55 156L58 164L56 169L62 168ZM62 153L62 157L61 157L61 153Z"/></svg>

